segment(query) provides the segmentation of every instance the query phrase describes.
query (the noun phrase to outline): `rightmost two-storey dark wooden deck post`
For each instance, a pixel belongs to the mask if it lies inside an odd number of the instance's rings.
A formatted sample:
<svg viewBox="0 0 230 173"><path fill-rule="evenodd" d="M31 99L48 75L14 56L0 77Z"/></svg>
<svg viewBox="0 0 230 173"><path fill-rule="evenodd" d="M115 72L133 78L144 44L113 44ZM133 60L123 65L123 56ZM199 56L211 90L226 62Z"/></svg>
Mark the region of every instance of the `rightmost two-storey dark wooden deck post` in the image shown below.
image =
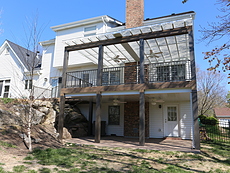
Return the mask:
<svg viewBox="0 0 230 173"><path fill-rule="evenodd" d="M191 61L191 79L196 82L196 63L194 55L194 38L193 30L189 30L189 53ZM197 101L197 89L196 83L195 88L193 88L191 93L191 102L192 102L192 114L193 114L193 148L200 149L200 131L199 131L199 122L198 122L198 101Z"/></svg>

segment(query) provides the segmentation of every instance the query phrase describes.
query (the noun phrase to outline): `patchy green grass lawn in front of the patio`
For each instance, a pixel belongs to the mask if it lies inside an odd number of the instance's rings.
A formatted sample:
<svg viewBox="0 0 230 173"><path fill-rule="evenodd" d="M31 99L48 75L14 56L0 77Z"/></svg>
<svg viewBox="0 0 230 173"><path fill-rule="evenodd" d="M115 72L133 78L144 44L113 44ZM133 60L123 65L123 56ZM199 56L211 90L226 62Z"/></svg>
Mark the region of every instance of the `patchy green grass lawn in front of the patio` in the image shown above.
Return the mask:
<svg viewBox="0 0 230 173"><path fill-rule="evenodd" d="M124 149L68 144L35 149L12 172L0 173L230 173L230 143L202 143L201 153Z"/></svg>

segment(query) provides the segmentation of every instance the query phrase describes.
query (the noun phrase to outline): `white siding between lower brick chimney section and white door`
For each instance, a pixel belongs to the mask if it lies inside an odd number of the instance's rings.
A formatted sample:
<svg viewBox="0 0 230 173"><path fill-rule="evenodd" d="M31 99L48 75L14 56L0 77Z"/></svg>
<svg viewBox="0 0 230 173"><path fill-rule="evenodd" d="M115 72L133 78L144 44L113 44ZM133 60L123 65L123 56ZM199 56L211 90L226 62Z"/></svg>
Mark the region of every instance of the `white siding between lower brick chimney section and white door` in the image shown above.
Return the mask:
<svg viewBox="0 0 230 173"><path fill-rule="evenodd" d="M157 105L149 104L149 137L163 138L163 106L161 108Z"/></svg>

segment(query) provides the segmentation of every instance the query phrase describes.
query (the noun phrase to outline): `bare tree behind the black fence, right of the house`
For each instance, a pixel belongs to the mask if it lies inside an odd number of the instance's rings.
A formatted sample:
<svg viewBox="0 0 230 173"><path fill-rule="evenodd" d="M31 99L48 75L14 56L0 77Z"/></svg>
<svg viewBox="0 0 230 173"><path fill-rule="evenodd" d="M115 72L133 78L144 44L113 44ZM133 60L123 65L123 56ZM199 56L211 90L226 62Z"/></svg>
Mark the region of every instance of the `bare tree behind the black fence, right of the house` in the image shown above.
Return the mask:
<svg viewBox="0 0 230 173"><path fill-rule="evenodd" d="M197 69L198 113L210 115L213 108L226 105L225 77L212 71Z"/></svg>

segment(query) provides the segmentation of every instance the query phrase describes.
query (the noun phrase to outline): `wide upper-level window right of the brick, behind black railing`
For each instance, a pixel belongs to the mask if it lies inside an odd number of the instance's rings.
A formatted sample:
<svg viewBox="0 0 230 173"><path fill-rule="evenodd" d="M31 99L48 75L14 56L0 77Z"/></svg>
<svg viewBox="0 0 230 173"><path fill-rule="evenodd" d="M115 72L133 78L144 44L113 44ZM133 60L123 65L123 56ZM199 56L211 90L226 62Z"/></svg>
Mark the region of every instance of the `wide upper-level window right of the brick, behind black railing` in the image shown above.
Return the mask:
<svg viewBox="0 0 230 173"><path fill-rule="evenodd" d="M157 67L157 81L185 80L185 64Z"/></svg>

